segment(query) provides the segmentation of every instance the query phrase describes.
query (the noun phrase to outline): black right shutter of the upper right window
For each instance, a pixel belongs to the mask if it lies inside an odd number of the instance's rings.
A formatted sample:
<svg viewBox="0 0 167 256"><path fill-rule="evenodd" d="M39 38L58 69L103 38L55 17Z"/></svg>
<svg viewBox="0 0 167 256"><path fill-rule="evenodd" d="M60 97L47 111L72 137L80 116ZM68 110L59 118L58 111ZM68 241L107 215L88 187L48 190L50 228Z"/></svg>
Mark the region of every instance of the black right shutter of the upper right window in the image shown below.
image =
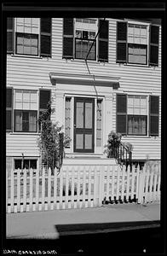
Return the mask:
<svg viewBox="0 0 167 256"><path fill-rule="evenodd" d="M149 40L149 65L158 66L158 38L159 27L150 26L150 40Z"/></svg>

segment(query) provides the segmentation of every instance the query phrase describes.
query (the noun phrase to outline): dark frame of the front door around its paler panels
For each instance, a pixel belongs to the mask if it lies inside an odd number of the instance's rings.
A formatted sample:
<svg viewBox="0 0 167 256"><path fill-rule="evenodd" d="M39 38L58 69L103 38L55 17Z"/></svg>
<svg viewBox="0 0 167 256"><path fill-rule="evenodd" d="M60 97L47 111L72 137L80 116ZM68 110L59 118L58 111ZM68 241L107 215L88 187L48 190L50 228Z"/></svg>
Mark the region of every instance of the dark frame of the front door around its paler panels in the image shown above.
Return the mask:
<svg viewBox="0 0 167 256"><path fill-rule="evenodd" d="M76 128L76 105L77 102L83 102L83 128ZM85 102L92 102L92 128L84 128L85 126ZM73 117L73 152L74 153L95 153L95 98L74 96L74 117ZM77 131L76 131L77 130ZM76 148L76 134L83 134L83 149ZM92 135L92 148L84 149L84 135Z"/></svg>

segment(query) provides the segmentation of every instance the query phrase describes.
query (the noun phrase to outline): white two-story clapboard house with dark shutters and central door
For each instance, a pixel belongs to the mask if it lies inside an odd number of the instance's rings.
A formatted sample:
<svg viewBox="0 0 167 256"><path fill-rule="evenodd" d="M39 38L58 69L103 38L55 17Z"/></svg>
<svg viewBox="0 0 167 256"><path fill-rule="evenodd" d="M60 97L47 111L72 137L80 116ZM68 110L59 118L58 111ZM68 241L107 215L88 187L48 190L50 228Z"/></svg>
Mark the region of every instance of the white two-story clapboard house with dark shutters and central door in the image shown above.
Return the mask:
<svg viewBox="0 0 167 256"><path fill-rule="evenodd" d="M72 141L64 164L111 161L110 131L133 145L132 160L160 160L159 20L7 20L7 170L37 169L38 115L53 98L53 122Z"/></svg>

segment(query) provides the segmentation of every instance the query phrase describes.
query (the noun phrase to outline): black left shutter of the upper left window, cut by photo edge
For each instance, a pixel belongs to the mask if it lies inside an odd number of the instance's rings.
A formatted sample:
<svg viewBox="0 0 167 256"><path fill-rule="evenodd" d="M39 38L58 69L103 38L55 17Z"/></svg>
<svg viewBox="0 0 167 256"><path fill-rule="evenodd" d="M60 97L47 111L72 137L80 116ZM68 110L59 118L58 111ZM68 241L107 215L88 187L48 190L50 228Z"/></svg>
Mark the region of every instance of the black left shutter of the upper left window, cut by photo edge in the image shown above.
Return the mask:
<svg viewBox="0 0 167 256"><path fill-rule="evenodd" d="M14 18L7 18L7 53L14 53Z"/></svg>

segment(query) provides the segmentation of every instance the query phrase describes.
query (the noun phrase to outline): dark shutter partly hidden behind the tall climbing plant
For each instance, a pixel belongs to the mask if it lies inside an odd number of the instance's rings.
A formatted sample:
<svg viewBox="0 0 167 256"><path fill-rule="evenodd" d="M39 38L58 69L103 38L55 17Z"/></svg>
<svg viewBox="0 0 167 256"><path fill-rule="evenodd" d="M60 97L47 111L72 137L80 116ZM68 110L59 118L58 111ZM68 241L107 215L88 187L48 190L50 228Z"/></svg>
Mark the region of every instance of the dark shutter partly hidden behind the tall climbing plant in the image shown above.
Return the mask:
<svg viewBox="0 0 167 256"><path fill-rule="evenodd" d="M39 90L39 115L47 110L50 101L50 90ZM38 122L38 129L41 131L41 123Z"/></svg>

